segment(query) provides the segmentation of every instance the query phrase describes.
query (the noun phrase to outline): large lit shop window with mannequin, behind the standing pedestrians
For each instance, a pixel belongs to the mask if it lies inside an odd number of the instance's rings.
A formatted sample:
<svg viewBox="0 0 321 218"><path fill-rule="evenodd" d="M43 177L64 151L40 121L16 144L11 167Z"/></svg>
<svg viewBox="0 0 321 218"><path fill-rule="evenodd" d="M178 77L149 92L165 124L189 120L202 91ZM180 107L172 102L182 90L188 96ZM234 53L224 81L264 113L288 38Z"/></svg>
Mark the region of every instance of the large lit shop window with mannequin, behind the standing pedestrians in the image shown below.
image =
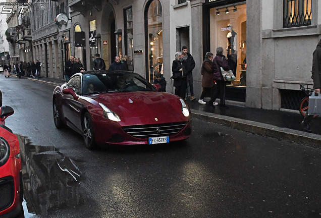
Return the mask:
<svg viewBox="0 0 321 218"><path fill-rule="evenodd" d="M246 86L246 4L210 9L210 51L224 48L236 77L231 86Z"/></svg>

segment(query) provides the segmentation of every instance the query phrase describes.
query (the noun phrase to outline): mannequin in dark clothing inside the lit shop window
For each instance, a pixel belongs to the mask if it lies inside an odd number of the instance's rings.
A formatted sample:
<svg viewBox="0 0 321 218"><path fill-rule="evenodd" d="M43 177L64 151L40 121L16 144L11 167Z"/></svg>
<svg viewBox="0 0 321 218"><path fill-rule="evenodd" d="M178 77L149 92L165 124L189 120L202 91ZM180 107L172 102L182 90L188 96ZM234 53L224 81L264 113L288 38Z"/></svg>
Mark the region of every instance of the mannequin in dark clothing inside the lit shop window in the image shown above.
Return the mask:
<svg viewBox="0 0 321 218"><path fill-rule="evenodd" d="M227 58L228 58L228 64L231 67L231 70L233 71L234 76L236 76L236 67L237 67L237 34L233 30L233 26L231 24L228 24L228 27L231 28L230 32L227 34L228 38L228 47L227 47Z"/></svg>

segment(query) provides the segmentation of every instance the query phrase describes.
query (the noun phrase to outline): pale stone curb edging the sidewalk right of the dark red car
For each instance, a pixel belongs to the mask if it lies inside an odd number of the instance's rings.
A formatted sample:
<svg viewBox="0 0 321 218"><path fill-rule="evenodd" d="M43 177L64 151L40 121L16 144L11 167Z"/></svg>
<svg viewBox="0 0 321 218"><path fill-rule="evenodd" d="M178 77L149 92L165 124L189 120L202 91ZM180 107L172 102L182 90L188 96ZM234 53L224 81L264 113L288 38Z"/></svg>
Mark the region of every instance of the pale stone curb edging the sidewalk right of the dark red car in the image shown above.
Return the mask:
<svg viewBox="0 0 321 218"><path fill-rule="evenodd" d="M255 121L248 121L208 112L202 112L202 114L200 114L199 111L196 110L191 110L191 112L193 118L201 121L217 123L233 129L272 137L278 140L294 142L309 147L321 147L321 136L317 134L302 132L299 130L292 130L288 128L281 128L270 124L263 124Z"/></svg>

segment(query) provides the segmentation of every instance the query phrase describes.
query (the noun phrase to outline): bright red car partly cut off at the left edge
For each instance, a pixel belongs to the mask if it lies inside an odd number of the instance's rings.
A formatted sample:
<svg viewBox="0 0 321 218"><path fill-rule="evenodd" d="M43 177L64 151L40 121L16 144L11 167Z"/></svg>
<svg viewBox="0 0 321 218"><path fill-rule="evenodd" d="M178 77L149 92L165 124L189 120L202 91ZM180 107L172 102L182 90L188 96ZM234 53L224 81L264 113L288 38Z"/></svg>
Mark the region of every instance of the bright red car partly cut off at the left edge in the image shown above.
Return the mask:
<svg viewBox="0 0 321 218"><path fill-rule="evenodd" d="M0 101L1 102L1 101ZM23 214L23 186L19 141L5 126L5 119L14 110L0 106L0 217L19 217Z"/></svg>

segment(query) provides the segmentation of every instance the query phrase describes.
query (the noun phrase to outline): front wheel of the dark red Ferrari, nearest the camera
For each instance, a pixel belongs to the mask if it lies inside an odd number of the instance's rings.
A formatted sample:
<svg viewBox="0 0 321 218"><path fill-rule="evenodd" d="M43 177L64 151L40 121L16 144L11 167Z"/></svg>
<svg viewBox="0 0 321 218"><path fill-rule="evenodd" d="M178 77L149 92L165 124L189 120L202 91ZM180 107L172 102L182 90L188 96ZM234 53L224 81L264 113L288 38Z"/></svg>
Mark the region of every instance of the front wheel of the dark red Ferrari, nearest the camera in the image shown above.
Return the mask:
<svg viewBox="0 0 321 218"><path fill-rule="evenodd" d="M82 133L85 141L85 146L89 150L95 148L95 137L91 117L88 112L84 114L83 123L82 123Z"/></svg>

